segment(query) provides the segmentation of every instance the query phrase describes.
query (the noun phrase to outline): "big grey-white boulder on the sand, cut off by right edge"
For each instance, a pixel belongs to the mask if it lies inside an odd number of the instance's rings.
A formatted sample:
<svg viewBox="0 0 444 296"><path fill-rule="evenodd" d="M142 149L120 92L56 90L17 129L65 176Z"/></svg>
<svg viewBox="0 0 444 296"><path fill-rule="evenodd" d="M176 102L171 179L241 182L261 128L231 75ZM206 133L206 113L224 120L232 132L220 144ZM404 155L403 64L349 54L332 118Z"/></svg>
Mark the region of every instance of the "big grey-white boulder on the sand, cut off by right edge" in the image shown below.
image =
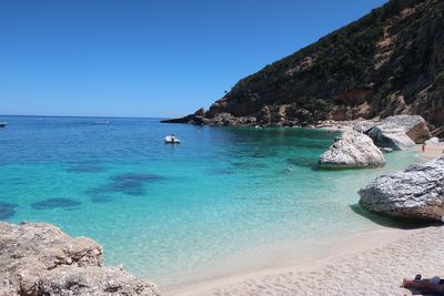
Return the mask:
<svg viewBox="0 0 444 296"><path fill-rule="evenodd" d="M443 221L444 156L383 175L359 191L370 212L396 217Z"/></svg>

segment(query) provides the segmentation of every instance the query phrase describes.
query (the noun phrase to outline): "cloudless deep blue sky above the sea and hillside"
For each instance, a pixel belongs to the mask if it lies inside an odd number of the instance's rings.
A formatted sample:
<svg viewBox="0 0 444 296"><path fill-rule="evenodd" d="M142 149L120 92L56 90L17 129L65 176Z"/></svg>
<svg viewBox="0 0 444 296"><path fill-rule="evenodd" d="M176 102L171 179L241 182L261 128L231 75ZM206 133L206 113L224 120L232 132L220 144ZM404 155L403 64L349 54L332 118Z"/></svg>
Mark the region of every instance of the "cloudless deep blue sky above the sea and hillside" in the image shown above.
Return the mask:
<svg viewBox="0 0 444 296"><path fill-rule="evenodd" d="M188 114L384 2L1 0L0 114Z"/></svg>

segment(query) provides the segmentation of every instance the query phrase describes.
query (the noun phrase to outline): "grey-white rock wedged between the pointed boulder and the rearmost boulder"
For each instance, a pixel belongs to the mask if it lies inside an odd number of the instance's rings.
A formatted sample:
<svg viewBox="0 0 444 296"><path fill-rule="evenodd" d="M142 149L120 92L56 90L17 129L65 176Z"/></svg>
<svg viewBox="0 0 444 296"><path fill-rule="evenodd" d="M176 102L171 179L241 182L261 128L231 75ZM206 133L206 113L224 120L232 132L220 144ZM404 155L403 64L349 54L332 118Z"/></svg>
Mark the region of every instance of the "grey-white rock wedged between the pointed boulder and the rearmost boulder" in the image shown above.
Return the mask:
<svg viewBox="0 0 444 296"><path fill-rule="evenodd" d="M382 147L407 150L415 146L415 142L405 133L404 129L394 124L379 124L369 132L373 142Z"/></svg>

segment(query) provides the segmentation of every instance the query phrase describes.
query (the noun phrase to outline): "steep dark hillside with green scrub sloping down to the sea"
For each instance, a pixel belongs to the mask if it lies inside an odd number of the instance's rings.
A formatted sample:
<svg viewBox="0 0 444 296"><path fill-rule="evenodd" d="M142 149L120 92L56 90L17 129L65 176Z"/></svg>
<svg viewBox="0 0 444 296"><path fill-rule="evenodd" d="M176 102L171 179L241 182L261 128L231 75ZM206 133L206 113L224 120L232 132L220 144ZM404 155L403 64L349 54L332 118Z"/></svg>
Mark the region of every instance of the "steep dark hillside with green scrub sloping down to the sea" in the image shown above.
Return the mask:
<svg viewBox="0 0 444 296"><path fill-rule="evenodd" d="M444 1L387 2L239 81L204 118L220 114L271 125L421 114L444 125Z"/></svg>

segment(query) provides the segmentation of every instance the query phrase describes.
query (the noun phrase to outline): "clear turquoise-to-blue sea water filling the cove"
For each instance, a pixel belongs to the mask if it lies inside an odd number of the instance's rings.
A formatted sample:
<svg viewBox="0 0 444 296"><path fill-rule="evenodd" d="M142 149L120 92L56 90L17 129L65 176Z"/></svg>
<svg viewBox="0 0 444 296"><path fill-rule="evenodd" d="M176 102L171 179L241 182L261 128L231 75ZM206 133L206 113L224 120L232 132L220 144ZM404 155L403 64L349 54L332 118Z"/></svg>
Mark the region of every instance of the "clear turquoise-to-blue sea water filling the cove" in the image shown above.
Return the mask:
<svg viewBox="0 0 444 296"><path fill-rule="evenodd" d="M337 133L309 129L2 120L0 220L89 236L107 264L161 285L236 272L236 254L251 254L242 268L255 267L269 264L259 254L279 254L273 247L283 243L297 252L381 227L352 211L356 191L415 161L395 152L383 169L320 171L317 157ZM182 143L165 145L169 133Z"/></svg>

